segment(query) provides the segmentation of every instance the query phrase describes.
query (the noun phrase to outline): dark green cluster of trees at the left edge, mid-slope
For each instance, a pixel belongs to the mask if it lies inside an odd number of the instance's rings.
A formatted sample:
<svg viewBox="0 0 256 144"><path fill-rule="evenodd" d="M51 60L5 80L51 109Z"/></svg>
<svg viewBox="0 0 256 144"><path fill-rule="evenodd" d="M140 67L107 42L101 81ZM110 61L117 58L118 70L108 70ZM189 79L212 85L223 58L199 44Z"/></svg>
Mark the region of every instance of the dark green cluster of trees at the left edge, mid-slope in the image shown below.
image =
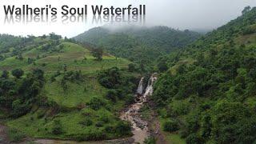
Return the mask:
<svg viewBox="0 0 256 144"><path fill-rule="evenodd" d="M12 70L15 78L9 77L4 70L0 78L1 107L11 111L10 116L19 117L30 111L37 100L37 96L44 84L44 72L35 69L22 78L23 70Z"/></svg>

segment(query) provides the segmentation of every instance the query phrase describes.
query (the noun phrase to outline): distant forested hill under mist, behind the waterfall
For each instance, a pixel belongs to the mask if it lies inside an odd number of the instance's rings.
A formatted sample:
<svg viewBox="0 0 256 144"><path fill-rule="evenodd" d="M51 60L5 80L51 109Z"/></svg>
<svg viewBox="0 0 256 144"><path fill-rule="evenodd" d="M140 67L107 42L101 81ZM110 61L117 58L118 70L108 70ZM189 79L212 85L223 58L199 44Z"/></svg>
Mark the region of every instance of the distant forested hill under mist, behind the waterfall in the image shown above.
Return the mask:
<svg viewBox="0 0 256 144"><path fill-rule="evenodd" d="M116 57L128 58L144 67L154 62L154 58L182 48L200 36L190 30L174 30L167 26L126 26L114 30L103 26L79 34L75 39L102 47Z"/></svg>

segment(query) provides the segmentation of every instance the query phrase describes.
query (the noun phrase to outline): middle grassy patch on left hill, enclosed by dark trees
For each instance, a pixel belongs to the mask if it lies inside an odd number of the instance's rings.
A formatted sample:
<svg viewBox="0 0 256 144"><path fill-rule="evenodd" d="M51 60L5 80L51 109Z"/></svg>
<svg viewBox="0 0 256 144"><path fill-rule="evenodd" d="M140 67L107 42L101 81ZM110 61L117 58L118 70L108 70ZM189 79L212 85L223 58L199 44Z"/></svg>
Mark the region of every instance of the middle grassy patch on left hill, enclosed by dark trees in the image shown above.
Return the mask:
<svg viewBox="0 0 256 144"><path fill-rule="evenodd" d="M59 81L47 82L44 89L44 94L60 106L75 107L106 94L106 88L100 86L95 78L86 78L85 82L80 83L68 82L65 92L60 85Z"/></svg>

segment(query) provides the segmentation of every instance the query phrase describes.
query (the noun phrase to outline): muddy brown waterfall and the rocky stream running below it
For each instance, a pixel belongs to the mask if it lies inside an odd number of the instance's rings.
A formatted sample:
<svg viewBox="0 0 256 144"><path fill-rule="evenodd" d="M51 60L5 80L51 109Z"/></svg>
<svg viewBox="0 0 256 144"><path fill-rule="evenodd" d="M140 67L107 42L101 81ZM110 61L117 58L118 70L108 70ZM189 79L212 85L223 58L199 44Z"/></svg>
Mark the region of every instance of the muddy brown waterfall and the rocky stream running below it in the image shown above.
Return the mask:
<svg viewBox="0 0 256 144"><path fill-rule="evenodd" d="M146 91L143 94L143 79L139 82L138 90L137 90L137 98L139 101L134 103L133 105L129 106L129 109L124 111L120 118L125 121L129 121L132 124L133 127L133 138L134 143L143 143L146 138L149 137L149 131L147 127L147 122L143 121L140 118L139 110L143 106L143 103L146 102L147 98L153 94L153 84L155 80L157 79L156 74L152 74L149 82L146 86ZM138 93L141 92L141 93Z"/></svg>

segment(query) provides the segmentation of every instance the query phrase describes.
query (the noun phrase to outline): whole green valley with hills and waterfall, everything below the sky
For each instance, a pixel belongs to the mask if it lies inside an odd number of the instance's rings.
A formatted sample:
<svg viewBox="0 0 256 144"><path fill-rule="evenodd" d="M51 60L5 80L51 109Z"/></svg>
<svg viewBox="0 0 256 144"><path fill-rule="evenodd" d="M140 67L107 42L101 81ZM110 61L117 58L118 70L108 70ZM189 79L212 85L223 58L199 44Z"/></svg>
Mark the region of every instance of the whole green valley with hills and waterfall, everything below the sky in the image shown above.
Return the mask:
<svg viewBox="0 0 256 144"><path fill-rule="evenodd" d="M255 48L250 6L205 35L1 34L0 142L255 143Z"/></svg>

